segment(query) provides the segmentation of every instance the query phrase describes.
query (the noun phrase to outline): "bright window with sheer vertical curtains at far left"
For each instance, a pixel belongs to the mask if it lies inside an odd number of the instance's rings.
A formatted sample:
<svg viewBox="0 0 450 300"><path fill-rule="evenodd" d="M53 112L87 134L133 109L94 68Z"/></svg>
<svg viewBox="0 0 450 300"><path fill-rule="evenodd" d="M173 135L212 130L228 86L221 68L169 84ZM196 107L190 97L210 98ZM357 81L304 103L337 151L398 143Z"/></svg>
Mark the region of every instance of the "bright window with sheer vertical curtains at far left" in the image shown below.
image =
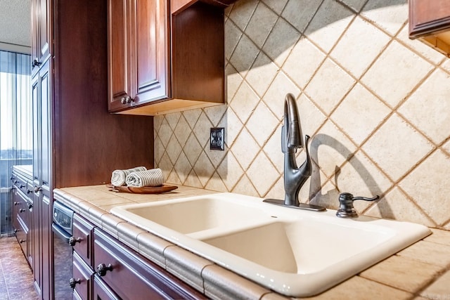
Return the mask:
<svg viewBox="0 0 450 300"><path fill-rule="evenodd" d="M11 228L11 167L32 164L30 73L30 55L0 51L0 234Z"/></svg>

